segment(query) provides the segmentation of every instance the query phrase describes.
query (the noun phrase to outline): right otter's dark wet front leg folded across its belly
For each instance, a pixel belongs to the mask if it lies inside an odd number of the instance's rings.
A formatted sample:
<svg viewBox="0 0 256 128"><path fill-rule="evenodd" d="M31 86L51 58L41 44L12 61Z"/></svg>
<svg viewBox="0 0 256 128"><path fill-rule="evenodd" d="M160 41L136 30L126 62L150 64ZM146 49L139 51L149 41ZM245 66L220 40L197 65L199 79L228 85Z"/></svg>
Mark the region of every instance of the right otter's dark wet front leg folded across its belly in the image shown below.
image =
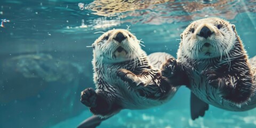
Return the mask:
<svg viewBox="0 0 256 128"><path fill-rule="evenodd" d="M221 74L214 69L203 71L203 74L206 76L209 85L218 89L223 99L233 102L238 106L250 100L254 87L252 79L248 75L239 73Z"/></svg>

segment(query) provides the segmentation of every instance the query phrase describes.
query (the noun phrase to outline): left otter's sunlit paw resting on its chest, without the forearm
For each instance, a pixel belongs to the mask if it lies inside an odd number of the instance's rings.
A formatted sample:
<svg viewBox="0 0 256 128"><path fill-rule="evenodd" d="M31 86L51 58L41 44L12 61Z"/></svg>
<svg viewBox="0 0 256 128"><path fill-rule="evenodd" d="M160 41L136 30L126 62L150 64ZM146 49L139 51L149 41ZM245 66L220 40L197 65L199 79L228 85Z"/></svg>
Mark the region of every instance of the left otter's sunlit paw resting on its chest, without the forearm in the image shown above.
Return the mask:
<svg viewBox="0 0 256 128"><path fill-rule="evenodd" d="M131 71L126 69L117 70L117 76L119 76L124 82L128 82L131 86L145 86L146 84L139 81L138 77Z"/></svg>

